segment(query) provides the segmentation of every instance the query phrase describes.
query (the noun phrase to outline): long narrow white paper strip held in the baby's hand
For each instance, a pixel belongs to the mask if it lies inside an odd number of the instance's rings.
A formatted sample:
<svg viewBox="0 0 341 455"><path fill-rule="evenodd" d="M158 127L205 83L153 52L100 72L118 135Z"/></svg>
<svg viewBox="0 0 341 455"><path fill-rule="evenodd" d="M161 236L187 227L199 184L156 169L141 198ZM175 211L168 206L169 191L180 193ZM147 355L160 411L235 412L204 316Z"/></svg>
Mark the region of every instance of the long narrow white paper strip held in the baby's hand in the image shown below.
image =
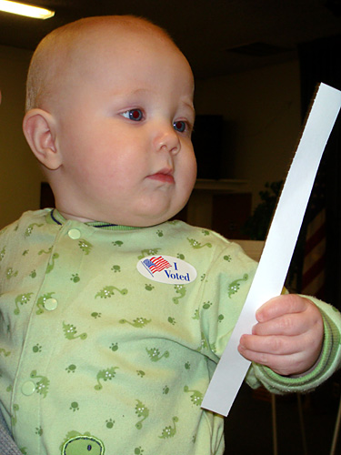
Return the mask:
<svg viewBox="0 0 341 455"><path fill-rule="evenodd" d="M256 309L282 291L317 168L340 106L341 92L321 84L286 177L245 306L206 391L202 403L206 410L226 416L245 378L250 362L237 351L239 339L244 333L251 333L256 324Z"/></svg>

